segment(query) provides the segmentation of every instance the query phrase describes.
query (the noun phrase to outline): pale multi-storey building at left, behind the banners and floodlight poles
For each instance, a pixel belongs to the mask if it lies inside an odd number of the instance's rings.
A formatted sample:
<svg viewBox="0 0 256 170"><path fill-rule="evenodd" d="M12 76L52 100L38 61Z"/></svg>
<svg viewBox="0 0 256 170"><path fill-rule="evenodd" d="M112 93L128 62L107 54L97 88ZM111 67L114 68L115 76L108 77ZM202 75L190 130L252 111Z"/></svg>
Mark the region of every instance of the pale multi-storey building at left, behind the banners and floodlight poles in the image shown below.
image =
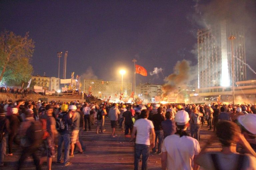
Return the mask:
<svg viewBox="0 0 256 170"><path fill-rule="evenodd" d="M42 86L45 90L59 89L59 78L36 75L32 76L31 79L33 85Z"/></svg>

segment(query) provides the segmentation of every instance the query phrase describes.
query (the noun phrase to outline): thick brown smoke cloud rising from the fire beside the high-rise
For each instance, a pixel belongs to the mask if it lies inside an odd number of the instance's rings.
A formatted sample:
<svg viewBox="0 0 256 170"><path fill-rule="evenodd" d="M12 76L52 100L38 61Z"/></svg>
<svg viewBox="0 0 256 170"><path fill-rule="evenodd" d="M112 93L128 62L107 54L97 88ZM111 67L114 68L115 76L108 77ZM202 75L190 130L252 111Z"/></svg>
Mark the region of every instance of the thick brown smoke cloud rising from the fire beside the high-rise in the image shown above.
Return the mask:
<svg viewBox="0 0 256 170"><path fill-rule="evenodd" d="M178 61L174 67L174 73L165 78L162 86L162 97L167 97L170 93L177 90L179 85L193 81L197 75L197 66L190 66L187 60Z"/></svg>

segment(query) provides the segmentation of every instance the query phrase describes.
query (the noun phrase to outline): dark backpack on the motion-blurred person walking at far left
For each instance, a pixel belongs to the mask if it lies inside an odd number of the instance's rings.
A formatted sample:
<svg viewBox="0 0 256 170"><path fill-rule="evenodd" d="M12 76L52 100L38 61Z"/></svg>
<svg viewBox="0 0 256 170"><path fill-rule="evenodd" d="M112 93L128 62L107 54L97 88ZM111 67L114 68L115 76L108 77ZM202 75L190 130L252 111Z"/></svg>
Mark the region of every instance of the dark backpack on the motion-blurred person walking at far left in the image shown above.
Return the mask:
<svg viewBox="0 0 256 170"><path fill-rule="evenodd" d="M27 141L30 145L39 145L42 142L44 131L40 121L31 122L31 125L26 131Z"/></svg>

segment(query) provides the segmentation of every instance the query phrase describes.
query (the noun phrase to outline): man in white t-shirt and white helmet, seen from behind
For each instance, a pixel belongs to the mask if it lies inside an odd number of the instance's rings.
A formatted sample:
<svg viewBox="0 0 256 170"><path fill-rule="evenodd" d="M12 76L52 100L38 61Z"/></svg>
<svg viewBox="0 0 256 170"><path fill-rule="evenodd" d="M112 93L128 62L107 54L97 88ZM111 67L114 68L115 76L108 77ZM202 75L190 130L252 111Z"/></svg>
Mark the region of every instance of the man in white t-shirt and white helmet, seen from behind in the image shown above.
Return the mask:
<svg viewBox="0 0 256 170"><path fill-rule="evenodd" d="M192 164L200 152L196 139L186 132L189 126L189 115L185 110L180 110L175 115L177 132L164 139L162 145L162 169L193 169ZM194 164L194 170L199 166Z"/></svg>

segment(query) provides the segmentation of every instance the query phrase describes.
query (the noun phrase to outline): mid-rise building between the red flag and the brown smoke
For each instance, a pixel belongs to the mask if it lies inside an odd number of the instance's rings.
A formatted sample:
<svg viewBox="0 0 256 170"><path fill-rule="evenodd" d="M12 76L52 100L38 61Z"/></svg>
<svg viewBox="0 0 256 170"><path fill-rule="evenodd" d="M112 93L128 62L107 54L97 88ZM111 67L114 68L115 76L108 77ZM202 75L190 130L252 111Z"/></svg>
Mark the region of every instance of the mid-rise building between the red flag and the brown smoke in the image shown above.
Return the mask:
<svg viewBox="0 0 256 170"><path fill-rule="evenodd" d="M161 94L162 85L144 83L136 86L136 95L143 100L148 100L148 102L160 101Z"/></svg>

